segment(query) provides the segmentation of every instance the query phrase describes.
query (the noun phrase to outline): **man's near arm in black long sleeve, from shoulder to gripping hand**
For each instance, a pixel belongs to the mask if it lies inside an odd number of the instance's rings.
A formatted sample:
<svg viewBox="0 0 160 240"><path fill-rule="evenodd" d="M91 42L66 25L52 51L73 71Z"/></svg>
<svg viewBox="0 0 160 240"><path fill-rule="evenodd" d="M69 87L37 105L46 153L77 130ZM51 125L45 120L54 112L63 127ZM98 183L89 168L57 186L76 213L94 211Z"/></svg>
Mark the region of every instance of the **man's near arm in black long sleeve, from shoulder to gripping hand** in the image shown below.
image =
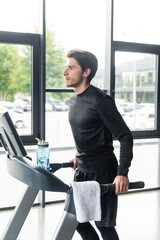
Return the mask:
<svg viewBox="0 0 160 240"><path fill-rule="evenodd" d="M120 142L120 159L117 170L117 177L114 180L116 184L116 194L128 191L128 169L133 158L133 137L131 131L124 122L121 114L118 112L114 100L107 96L99 104L98 114L104 125L112 135Z"/></svg>

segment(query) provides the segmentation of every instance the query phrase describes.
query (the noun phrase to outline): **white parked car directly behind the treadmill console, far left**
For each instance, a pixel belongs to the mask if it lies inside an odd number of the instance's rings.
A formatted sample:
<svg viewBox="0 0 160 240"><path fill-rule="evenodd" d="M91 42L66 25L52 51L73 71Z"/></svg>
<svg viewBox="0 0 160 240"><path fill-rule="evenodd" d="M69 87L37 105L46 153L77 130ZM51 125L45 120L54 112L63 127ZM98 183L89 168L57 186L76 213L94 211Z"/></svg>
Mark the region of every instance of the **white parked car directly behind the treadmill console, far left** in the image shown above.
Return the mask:
<svg viewBox="0 0 160 240"><path fill-rule="evenodd" d="M0 113L4 113L4 112L9 113L9 115L13 121L13 124L17 129L25 127L23 113L17 113L17 112L14 112L13 110L10 110L3 106L0 106Z"/></svg>

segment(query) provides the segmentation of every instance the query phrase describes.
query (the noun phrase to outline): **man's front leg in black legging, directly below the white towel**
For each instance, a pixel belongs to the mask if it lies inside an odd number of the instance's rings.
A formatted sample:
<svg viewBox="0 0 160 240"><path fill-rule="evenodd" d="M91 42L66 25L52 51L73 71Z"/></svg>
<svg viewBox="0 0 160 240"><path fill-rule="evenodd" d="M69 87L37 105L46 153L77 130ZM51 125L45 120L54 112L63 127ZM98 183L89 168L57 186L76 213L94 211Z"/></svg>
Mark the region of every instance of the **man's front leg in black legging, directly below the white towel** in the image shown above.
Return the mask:
<svg viewBox="0 0 160 240"><path fill-rule="evenodd" d="M81 235L83 240L99 240L96 230L89 222L79 223L77 232Z"/></svg>

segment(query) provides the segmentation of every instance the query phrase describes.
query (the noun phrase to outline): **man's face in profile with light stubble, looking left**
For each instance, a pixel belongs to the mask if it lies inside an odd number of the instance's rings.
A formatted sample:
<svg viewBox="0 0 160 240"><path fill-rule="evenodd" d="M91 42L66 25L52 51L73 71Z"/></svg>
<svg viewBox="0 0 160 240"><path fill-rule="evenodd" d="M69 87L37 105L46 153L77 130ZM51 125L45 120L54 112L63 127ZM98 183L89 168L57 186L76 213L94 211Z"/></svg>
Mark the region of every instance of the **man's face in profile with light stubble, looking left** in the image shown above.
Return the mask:
<svg viewBox="0 0 160 240"><path fill-rule="evenodd" d="M66 87L79 87L85 79L81 66L74 58L68 59L68 64L63 75L65 76Z"/></svg>

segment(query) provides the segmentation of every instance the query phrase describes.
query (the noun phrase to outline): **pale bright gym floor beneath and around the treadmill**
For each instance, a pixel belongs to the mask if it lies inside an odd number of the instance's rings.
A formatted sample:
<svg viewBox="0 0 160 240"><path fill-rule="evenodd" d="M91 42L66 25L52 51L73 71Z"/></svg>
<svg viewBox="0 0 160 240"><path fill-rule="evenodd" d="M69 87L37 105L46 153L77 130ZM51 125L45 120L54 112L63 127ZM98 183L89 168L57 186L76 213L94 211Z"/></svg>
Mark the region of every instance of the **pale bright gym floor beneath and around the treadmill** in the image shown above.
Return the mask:
<svg viewBox="0 0 160 240"><path fill-rule="evenodd" d="M63 204L33 207L17 240L51 240L63 212ZM12 211L0 212L0 236ZM119 196L117 232L120 240L160 239L160 191ZM75 233L73 240L80 240ZM65 240L65 239L64 239Z"/></svg>

